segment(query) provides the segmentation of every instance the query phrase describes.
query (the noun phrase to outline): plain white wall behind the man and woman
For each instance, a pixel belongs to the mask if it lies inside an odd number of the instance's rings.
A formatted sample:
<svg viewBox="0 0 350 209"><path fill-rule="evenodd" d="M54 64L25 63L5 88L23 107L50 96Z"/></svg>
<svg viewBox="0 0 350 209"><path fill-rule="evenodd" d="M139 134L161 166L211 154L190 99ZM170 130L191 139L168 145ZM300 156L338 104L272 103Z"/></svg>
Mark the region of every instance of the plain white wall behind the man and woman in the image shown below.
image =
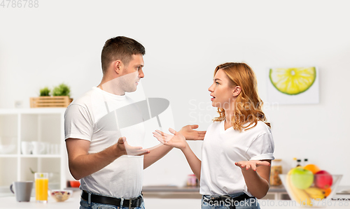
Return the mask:
<svg viewBox="0 0 350 209"><path fill-rule="evenodd" d="M0 7L0 108L29 107L38 89L61 82L72 97L99 84L100 53L114 36L146 47L148 97L169 99L175 128L216 115L207 91L223 62L246 62L267 98L266 69L318 66L320 103L265 106L275 157L309 161L350 185L347 134L350 1L39 1L38 8ZM201 143L191 146L200 156ZM145 171L145 185L181 185L190 173L179 150Z"/></svg>

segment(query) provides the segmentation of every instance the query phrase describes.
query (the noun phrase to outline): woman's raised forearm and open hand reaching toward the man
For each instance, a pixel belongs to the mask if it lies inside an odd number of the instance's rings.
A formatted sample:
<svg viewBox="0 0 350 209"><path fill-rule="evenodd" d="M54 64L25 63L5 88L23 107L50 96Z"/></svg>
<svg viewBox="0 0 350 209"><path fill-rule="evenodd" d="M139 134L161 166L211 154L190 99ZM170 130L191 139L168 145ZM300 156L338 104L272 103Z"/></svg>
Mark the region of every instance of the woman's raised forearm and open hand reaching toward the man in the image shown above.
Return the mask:
<svg viewBox="0 0 350 209"><path fill-rule="evenodd" d="M174 136L170 134L165 134L164 132L159 130L153 132L153 136L157 138L163 145L179 148L183 152L183 154L185 154L185 157L193 173L195 174L197 179L200 180L200 159L198 159L195 153L193 153L193 151L191 150L190 145L188 145L188 143L186 142L185 136L175 131L174 129L169 129L169 131L170 133L174 134Z"/></svg>

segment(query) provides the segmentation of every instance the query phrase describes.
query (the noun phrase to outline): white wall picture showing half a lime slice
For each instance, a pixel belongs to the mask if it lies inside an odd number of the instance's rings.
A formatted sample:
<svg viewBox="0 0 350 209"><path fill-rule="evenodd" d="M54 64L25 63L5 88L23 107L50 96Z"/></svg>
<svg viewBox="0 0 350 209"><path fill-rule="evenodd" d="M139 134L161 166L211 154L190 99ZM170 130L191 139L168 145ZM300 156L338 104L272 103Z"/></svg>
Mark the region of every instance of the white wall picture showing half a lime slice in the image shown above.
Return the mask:
<svg viewBox="0 0 350 209"><path fill-rule="evenodd" d="M318 69L316 66L269 69L267 100L279 104L318 103Z"/></svg>

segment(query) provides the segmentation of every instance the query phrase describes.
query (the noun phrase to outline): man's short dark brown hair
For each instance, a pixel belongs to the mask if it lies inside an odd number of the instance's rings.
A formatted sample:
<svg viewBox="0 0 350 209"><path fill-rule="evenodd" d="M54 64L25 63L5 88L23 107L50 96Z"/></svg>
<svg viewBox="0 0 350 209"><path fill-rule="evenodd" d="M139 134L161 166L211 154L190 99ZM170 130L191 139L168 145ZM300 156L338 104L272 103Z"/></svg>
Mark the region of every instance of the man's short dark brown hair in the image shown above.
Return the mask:
<svg viewBox="0 0 350 209"><path fill-rule="evenodd" d="M132 58L132 55L145 55L146 50L141 43L132 38L125 36L117 36L111 38L104 43L102 49L101 62L102 72L105 73L111 62L120 60L127 66Z"/></svg>

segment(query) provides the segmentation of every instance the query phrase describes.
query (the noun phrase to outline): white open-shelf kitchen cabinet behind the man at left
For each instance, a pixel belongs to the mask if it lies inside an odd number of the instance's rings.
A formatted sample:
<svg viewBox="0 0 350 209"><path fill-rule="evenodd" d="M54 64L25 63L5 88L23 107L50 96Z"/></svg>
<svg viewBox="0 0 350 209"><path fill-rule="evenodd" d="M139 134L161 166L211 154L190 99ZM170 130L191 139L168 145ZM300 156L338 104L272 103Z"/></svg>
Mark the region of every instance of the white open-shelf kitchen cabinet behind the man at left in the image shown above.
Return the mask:
<svg viewBox="0 0 350 209"><path fill-rule="evenodd" d="M66 187L65 110L0 109L0 192L14 181L34 180L31 170L49 173L50 189ZM40 154L22 154L22 142L32 141L45 149Z"/></svg>

